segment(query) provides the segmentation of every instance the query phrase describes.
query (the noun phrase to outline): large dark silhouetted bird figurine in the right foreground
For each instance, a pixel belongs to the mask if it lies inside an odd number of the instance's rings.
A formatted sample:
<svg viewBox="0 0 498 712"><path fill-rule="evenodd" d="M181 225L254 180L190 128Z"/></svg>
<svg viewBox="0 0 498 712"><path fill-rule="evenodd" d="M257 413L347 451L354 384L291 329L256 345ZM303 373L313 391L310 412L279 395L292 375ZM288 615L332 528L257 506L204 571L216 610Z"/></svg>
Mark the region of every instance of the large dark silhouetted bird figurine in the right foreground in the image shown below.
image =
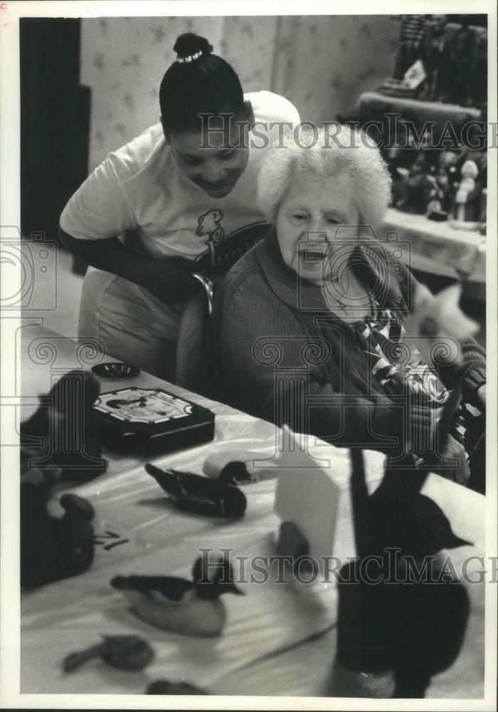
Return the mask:
<svg viewBox="0 0 498 712"><path fill-rule="evenodd" d="M431 677L455 661L469 614L464 585L434 555L468 542L420 494L426 473L408 460L372 496L362 452L351 450L351 460L358 559L339 572L338 660L355 670L392 670L393 697L422 698Z"/></svg>

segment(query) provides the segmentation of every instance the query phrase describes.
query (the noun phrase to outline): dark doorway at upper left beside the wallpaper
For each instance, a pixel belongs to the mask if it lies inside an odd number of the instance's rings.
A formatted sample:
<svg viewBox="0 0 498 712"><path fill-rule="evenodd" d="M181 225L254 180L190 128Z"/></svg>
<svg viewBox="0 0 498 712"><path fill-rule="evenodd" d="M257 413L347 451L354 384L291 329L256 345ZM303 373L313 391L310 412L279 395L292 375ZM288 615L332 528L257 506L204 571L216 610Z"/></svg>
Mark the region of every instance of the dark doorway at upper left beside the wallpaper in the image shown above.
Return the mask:
<svg viewBox="0 0 498 712"><path fill-rule="evenodd" d="M21 231L57 239L87 176L90 88L80 86L80 20L21 18Z"/></svg>

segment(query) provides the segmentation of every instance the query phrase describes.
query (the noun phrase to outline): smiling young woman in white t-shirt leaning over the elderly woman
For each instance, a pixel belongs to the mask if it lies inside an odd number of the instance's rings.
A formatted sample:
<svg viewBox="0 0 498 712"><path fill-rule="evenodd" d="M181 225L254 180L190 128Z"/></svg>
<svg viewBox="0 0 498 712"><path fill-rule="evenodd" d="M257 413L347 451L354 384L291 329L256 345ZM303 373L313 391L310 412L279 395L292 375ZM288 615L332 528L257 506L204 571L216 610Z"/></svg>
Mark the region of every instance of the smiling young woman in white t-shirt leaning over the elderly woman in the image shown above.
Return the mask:
<svg viewBox="0 0 498 712"><path fill-rule="evenodd" d="M260 236L265 132L300 121L279 95L244 95L205 38L181 35L174 50L161 122L111 153L60 216L63 242L95 268L80 339L97 337L108 355L169 380L182 303L203 289L193 273L226 270Z"/></svg>

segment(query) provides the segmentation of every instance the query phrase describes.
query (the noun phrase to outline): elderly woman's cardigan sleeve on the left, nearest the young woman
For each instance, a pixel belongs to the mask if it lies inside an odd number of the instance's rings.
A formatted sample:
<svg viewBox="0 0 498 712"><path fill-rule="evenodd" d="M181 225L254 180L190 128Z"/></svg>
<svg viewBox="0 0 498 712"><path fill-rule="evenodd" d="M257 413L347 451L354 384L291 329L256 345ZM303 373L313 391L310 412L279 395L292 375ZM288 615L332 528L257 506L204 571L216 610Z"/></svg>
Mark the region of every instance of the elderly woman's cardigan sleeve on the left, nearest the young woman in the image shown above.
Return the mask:
<svg viewBox="0 0 498 712"><path fill-rule="evenodd" d="M234 407L337 446L398 451L403 406L383 394L339 392L313 364L323 344L302 334L287 306L254 272L218 292L215 311L226 398ZM221 303L222 302L222 303ZM257 305L257 307L255 306Z"/></svg>

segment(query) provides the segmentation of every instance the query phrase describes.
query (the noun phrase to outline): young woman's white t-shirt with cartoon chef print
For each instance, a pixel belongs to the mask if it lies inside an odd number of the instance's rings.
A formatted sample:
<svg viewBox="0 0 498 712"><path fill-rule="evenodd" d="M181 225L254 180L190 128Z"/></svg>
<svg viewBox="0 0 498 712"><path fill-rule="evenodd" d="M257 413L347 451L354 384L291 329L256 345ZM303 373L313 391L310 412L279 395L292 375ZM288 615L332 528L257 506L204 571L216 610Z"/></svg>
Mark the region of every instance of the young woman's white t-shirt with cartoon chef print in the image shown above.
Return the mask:
<svg viewBox="0 0 498 712"><path fill-rule="evenodd" d="M260 91L244 98L253 106L255 127L248 164L227 196L212 198L181 173L159 123L110 153L85 180L60 216L63 231L99 240L134 230L151 256L181 256L201 266L233 263L266 223L257 201L265 154L260 135L275 142L280 129L270 130L270 122L294 127L300 122L295 107L280 95ZM289 129L283 131L286 135Z"/></svg>

